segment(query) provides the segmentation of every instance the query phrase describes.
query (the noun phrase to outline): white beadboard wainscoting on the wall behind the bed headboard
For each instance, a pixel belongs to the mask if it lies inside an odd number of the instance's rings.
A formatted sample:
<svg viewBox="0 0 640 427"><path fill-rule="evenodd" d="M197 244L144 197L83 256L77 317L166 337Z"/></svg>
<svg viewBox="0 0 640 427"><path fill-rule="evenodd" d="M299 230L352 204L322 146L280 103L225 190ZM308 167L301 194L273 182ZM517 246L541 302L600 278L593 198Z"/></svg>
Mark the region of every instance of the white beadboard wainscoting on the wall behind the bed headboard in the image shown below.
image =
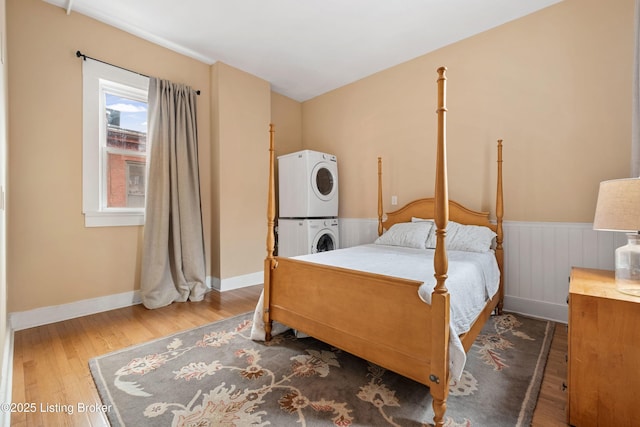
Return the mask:
<svg viewBox="0 0 640 427"><path fill-rule="evenodd" d="M376 219L340 219L340 246L372 243ZM594 231L590 223L504 223L505 309L567 322L571 267L613 270L624 233Z"/></svg>

